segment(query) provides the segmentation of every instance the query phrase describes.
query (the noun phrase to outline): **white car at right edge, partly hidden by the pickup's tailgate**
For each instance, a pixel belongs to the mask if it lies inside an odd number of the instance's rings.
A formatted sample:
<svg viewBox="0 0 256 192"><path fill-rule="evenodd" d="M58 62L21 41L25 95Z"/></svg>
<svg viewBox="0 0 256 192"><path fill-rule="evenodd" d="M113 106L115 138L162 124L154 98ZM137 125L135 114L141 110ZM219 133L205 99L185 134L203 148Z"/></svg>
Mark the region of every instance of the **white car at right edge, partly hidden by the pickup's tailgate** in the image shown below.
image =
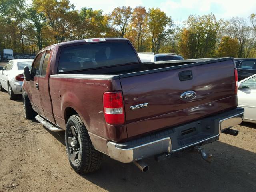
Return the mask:
<svg viewBox="0 0 256 192"><path fill-rule="evenodd" d="M256 123L256 74L238 82L238 106L244 108L244 121Z"/></svg>

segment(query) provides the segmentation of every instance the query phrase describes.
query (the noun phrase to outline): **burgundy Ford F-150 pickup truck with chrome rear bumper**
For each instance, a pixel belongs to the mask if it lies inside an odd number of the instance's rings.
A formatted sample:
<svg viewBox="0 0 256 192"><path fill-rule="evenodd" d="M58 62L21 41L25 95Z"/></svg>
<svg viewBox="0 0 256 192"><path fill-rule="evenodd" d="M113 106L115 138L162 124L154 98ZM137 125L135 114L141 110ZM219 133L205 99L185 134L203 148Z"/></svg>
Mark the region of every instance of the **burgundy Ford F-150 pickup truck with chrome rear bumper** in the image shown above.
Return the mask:
<svg viewBox="0 0 256 192"><path fill-rule="evenodd" d="M97 170L102 155L134 162L162 160L184 150L208 162L200 146L242 122L233 58L141 63L124 38L63 42L41 50L24 68L25 116L51 131L65 130L78 173Z"/></svg>

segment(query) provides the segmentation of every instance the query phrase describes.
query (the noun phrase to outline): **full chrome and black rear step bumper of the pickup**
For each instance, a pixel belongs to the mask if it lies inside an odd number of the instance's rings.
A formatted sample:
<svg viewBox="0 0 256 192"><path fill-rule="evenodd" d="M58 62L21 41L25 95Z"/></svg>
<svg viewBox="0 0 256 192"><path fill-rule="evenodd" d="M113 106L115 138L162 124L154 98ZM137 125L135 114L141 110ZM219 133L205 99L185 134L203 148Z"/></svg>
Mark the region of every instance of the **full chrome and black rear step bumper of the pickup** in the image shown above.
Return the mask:
<svg viewBox="0 0 256 192"><path fill-rule="evenodd" d="M220 132L242 122L244 108L236 108L214 116L167 128L124 143L108 142L110 158L123 163L135 162L149 156L178 152L218 140Z"/></svg>

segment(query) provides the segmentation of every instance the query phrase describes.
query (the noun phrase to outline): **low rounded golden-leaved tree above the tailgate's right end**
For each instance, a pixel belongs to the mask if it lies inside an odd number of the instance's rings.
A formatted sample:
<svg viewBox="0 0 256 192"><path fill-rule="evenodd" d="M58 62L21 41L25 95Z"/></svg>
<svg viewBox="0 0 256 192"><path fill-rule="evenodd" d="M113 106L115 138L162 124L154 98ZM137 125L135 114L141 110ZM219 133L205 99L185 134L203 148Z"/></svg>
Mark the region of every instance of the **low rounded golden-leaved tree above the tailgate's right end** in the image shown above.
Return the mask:
<svg viewBox="0 0 256 192"><path fill-rule="evenodd" d="M229 36L223 36L217 50L218 57L236 57L238 51L238 40Z"/></svg>

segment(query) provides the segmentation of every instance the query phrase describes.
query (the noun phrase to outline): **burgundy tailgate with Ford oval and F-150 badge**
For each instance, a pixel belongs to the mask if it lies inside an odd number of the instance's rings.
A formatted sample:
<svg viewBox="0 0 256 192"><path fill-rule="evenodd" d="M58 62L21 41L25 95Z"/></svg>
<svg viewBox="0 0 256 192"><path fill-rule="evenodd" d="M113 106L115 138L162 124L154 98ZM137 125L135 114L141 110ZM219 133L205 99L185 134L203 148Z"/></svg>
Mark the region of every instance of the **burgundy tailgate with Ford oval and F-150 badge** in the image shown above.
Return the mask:
<svg viewBox="0 0 256 192"><path fill-rule="evenodd" d="M193 78L181 81L179 73L189 70ZM233 59L124 74L120 75L120 82L128 137L191 122L237 106ZM194 91L196 96L182 100L180 95L186 91ZM136 106L146 103L148 106Z"/></svg>

